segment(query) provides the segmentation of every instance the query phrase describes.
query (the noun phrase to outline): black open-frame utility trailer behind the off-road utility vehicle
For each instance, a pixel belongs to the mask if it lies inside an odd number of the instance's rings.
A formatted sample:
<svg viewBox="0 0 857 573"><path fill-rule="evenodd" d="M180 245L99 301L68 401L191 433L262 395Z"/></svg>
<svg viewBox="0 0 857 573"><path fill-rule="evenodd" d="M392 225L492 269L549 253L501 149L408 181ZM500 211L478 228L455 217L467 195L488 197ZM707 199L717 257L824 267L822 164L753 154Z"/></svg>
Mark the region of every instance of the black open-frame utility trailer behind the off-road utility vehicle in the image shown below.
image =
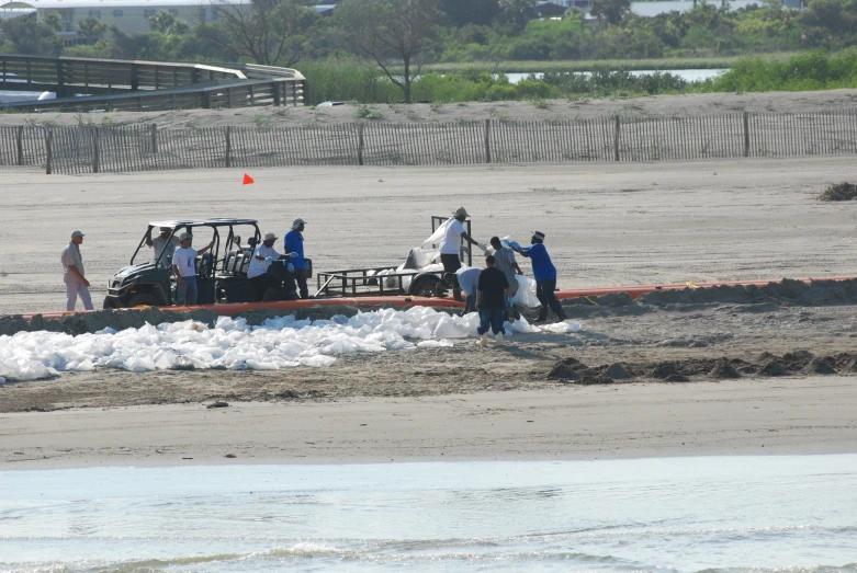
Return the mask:
<svg viewBox="0 0 857 573"><path fill-rule="evenodd" d="M447 221L449 217L432 215L431 233ZM467 234L471 232L471 220L464 221ZM432 245L437 247L437 244ZM461 240L459 256L467 262L467 266L473 266L473 253ZM388 297L388 296L416 296L433 297L438 294L443 271L403 270L395 271L399 265L374 266L369 268L348 268L345 271L329 271L318 273L317 288L314 298L337 298L337 297ZM388 272L379 275L380 272ZM392 272L390 272L392 271ZM406 278L410 284L406 285Z"/></svg>

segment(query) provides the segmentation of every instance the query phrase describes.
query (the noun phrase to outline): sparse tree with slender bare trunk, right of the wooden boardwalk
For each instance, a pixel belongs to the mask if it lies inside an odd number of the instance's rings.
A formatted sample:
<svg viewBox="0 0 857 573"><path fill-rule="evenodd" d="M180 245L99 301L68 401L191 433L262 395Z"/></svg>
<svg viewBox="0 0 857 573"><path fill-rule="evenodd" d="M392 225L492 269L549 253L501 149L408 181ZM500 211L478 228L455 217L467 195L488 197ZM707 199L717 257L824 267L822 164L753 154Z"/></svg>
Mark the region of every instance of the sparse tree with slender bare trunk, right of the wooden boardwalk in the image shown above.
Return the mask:
<svg viewBox="0 0 857 573"><path fill-rule="evenodd" d="M433 44L440 0L346 0L334 15L352 49L377 64L410 102L421 56ZM393 70L402 65L404 73Z"/></svg>

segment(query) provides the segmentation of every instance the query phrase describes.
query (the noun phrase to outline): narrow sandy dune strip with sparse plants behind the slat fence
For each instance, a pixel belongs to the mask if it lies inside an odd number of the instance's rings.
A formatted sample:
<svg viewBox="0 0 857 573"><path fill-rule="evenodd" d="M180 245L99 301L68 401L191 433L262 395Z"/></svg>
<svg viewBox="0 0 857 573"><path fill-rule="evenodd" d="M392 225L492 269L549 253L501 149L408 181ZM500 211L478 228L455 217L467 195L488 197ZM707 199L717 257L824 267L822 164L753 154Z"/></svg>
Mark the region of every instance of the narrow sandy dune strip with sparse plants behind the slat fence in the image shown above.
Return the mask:
<svg viewBox="0 0 857 573"><path fill-rule="evenodd" d="M567 121L622 117L698 117L751 112L801 114L853 110L857 90L764 93L694 93L645 98L579 98L530 102L465 102L444 104L371 104L380 115L369 123L424 124L473 119ZM5 114L0 125L135 125L155 123L163 129L200 127L300 127L360 121L356 104L330 107L247 107L240 110L181 110L174 112Z"/></svg>

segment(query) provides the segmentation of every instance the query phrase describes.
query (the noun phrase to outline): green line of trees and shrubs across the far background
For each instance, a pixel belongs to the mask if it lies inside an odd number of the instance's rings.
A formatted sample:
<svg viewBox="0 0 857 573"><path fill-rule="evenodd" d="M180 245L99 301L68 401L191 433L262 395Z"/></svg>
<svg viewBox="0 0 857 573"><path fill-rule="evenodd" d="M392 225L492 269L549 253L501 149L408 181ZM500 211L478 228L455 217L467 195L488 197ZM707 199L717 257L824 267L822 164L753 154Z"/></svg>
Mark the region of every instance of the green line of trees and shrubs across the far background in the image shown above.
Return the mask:
<svg viewBox="0 0 857 573"><path fill-rule="evenodd" d="M535 0L340 0L322 18L314 0L212 3L216 18L182 22L166 11L150 32L126 34L89 18L79 22L84 45L64 47L57 14L0 24L0 51L122 59L251 61L293 67L369 62L413 98L413 84L431 62L636 59L723 56L857 44L857 0L810 0L803 11L779 0L729 10L700 0L692 10L641 18L630 0L593 0L539 16ZM312 80L312 78L311 78Z"/></svg>

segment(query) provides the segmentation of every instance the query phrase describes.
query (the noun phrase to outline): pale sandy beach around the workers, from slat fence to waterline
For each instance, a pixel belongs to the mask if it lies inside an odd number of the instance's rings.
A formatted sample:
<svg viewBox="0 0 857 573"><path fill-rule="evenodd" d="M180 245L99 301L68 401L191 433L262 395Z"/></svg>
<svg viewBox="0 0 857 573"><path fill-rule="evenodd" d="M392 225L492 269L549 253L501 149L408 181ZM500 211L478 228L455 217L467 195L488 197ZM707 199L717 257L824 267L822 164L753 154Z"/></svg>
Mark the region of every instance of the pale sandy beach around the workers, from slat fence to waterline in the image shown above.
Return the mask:
<svg viewBox="0 0 857 573"><path fill-rule="evenodd" d="M58 256L76 228L88 233L83 256L100 300L146 222L172 217L258 217L279 234L304 217L319 270L395 264L428 236L430 215L464 205L480 240L545 232L562 288L857 274L855 205L814 200L854 179L853 158L252 175L257 183L243 187L236 171L7 172L0 312L63 307ZM459 344L348 355L327 368L106 369L7 383L0 469L855 451L857 377L846 354L856 309L849 290L819 300L578 305L570 307L578 334L522 335L501 349ZM763 374L769 355L798 351L835 363L836 374L813 374L809 358L790 376ZM643 374L597 386L551 379L570 358ZM748 374L689 382L645 374L719 358L744 360ZM229 406L206 408L217 400Z"/></svg>

